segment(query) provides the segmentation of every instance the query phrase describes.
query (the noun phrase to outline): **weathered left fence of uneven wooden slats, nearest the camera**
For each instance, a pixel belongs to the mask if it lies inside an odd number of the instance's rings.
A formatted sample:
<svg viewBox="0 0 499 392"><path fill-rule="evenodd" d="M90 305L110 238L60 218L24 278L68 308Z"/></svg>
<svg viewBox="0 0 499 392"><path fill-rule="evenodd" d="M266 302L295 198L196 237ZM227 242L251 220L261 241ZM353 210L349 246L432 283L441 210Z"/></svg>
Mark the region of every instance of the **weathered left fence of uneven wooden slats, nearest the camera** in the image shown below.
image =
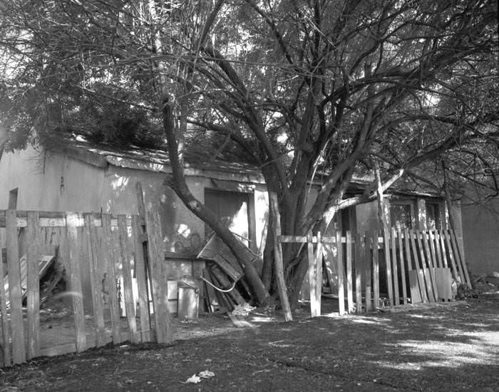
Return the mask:
<svg viewBox="0 0 499 392"><path fill-rule="evenodd" d="M3 366L109 342L171 341L158 213L112 216L6 210L0 211L0 231L6 248L6 263L0 252ZM63 295L71 307L74 336L71 343L60 346L41 347L43 255L56 256L68 286ZM83 279L89 280L91 312L83 306ZM120 295L124 312L119 308ZM120 317L123 313L125 318Z"/></svg>

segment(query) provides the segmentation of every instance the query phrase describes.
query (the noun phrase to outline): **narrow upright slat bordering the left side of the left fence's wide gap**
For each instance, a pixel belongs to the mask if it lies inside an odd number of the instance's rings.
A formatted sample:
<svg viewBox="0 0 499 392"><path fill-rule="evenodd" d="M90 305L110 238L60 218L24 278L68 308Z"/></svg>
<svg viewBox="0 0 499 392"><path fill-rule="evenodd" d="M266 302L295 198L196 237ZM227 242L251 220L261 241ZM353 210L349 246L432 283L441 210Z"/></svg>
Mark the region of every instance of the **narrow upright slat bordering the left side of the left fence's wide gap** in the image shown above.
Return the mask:
<svg viewBox="0 0 499 392"><path fill-rule="evenodd" d="M26 299L28 311L28 359L31 359L40 355L40 279L38 277L38 257L40 254L38 252L38 212L28 211L26 229L26 242L28 246L26 258L28 269L28 298Z"/></svg>

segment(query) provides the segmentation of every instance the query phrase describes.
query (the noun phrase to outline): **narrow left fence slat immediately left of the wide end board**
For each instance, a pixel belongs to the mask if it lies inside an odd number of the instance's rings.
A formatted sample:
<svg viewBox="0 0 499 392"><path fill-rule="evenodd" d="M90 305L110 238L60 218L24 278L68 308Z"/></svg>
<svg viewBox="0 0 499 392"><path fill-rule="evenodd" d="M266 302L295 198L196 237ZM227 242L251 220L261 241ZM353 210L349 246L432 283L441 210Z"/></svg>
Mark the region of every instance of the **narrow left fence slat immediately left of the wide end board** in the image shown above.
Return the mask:
<svg viewBox="0 0 499 392"><path fill-rule="evenodd" d="M150 341L150 316L148 283L145 277L144 246L142 241L143 228L138 216L132 216L132 238L134 248L134 268L137 280L138 311L140 316L140 336L142 341Z"/></svg>

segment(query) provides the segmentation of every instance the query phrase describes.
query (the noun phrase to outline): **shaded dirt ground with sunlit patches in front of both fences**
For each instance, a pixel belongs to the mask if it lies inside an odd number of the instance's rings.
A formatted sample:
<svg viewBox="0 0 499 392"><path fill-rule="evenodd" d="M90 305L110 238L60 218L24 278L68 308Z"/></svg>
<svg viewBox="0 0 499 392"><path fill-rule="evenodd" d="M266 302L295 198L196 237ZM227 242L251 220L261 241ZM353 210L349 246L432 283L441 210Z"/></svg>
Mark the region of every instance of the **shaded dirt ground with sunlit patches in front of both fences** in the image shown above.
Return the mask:
<svg viewBox="0 0 499 392"><path fill-rule="evenodd" d="M254 314L247 328L210 316L178 323L182 340L169 346L38 358L1 371L0 391L499 389L499 292L366 316L276 316ZM186 383L200 373L207 378Z"/></svg>

